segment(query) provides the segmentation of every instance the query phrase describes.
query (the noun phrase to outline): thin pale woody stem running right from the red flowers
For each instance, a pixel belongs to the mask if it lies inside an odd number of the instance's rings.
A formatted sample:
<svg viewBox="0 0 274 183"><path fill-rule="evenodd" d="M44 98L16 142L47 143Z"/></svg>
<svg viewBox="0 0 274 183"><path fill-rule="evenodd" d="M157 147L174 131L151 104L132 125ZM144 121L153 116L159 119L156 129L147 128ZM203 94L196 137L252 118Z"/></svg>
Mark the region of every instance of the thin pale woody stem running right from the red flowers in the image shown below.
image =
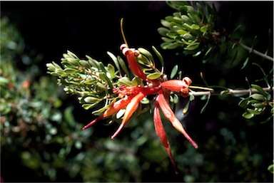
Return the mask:
<svg viewBox="0 0 274 183"><path fill-rule="evenodd" d="M274 87L270 88L263 88L263 90L265 91L270 91L270 90L273 90ZM196 92L196 91L191 91L189 93L189 95L194 95L194 96L203 96L203 95L223 95L223 94L239 94L239 93L255 93L255 92L258 92L258 90L256 90L255 88L252 88L252 89L248 89L248 90L233 90L233 89L228 89L228 90L222 90L222 91L219 91L219 92L210 92L210 91L199 91L199 92Z"/></svg>

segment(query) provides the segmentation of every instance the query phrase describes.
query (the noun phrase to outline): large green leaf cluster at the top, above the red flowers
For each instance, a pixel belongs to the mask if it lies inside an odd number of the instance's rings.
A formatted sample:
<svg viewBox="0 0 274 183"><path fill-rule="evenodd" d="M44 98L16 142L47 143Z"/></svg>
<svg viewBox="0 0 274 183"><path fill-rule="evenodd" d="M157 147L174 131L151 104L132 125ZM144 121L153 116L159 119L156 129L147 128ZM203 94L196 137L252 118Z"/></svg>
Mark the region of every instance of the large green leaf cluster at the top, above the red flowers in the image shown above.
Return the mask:
<svg viewBox="0 0 274 183"><path fill-rule="evenodd" d="M220 44L220 32L215 30L215 6L201 1L196 8L191 1L167 1L178 12L161 20L158 28L163 49L183 48L184 54L208 56Z"/></svg>

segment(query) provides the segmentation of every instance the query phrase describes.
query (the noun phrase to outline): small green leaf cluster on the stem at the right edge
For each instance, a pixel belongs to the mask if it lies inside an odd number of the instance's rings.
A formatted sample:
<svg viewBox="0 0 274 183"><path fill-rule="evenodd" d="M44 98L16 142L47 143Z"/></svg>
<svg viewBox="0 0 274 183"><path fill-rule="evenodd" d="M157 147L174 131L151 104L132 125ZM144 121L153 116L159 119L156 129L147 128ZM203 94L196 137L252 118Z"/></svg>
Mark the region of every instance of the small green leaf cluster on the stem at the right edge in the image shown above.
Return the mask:
<svg viewBox="0 0 274 183"><path fill-rule="evenodd" d="M270 93L266 92L259 85L251 85L251 90L255 89L257 93L253 93L248 96L248 98L243 98L240 100L239 106L245 108L245 113L243 117L250 119L256 115L261 115L263 112L270 108L271 115L267 120L270 120L273 117L273 101L271 100Z"/></svg>

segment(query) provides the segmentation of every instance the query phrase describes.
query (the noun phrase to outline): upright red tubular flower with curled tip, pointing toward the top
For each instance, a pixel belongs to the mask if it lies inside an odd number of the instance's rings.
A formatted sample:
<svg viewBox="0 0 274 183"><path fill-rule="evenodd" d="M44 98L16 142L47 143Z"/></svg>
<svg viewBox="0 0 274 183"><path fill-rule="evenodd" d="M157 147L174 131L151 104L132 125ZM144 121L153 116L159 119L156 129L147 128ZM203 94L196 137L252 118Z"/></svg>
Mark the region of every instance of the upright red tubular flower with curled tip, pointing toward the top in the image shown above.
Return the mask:
<svg viewBox="0 0 274 183"><path fill-rule="evenodd" d="M134 74L136 74L139 78L142 80L147 80L146 74L143 73L143 70L141 70L140 66L138 65L136 61L136 56L138 56L140 53L139 51L136 51L133 48L128 48L126 44L121 45L121 51L123 52L123 55L126 56L126 59L128 61L128 66L131 68Z"/></svg>

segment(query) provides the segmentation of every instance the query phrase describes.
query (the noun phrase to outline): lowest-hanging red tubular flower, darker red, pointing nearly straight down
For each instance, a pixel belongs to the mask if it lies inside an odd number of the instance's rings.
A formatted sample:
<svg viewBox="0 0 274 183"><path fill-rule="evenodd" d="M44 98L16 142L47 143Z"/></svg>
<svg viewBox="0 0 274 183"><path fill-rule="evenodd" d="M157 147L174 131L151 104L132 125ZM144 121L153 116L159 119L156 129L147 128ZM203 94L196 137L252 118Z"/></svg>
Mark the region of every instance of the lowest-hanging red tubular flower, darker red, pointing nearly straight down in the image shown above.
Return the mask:
<svg viewBox="0 0 274 183"><path fill-rule="evenodd" d="M160 138L163 147L165 148L166 152L168 153L168 157L171 160L171 163L173 164L176 174L178 174L178 169L176 168L176 163L173 160L173 156L171 153L171 145L169 145L168 137L166 137L166 132L163 128L163 123L161 120L161 115L160 115L160 110L159 110L158 97L156 98L153 117L154 117L154 126L155 126L155 130L156 130L156 134Z"/></svg>

